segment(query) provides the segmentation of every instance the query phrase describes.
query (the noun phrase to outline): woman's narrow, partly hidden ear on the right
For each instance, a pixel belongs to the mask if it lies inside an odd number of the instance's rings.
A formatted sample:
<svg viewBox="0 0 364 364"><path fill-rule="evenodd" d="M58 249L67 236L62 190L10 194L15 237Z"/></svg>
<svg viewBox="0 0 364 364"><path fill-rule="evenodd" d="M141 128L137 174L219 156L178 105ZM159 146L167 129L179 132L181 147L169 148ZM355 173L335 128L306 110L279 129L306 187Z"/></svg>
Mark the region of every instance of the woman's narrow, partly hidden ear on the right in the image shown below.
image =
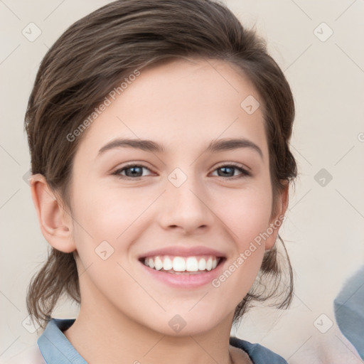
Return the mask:
<svg viewBox="0 0 364 364"><path fill-rule="evenodd" d="M279 228L281 227L283 221L285 220L284 214L288 208L288 192L289 192L289 183L288 181L283 181L285 184L284 190L279 193L276 203L276 213L269 220L269 227L267 228L267 240L265 240L265 250L270 250L274 247L274 244L278 237Z"/></svg>

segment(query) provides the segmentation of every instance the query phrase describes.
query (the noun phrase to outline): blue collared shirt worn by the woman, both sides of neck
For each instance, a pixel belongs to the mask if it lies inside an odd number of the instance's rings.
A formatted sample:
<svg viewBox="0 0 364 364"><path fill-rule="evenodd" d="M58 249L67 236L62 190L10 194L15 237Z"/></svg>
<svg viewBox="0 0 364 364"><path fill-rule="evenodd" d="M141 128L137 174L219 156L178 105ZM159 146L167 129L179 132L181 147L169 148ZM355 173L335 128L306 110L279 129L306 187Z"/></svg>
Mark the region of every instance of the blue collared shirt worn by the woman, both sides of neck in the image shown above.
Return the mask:
<svg viewBox="0 0 364 364"><path fill-rule="evenodd" d="M31 348L23 358L16 355L18 358L9 364L87 364L62 332L74 322L75 319L51 319L38 338L38 348ZM244 350L254 364L288 364L282 356L257 343L230 336L230 345Z"/></svg>

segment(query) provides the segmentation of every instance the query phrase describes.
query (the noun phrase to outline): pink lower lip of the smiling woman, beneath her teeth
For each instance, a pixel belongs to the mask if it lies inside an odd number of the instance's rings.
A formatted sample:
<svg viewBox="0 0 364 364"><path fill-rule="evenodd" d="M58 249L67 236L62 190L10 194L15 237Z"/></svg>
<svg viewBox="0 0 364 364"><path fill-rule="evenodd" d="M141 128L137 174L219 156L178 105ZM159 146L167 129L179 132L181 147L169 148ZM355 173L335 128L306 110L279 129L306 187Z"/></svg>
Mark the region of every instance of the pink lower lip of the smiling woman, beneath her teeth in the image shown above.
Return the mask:
<svg viewBox="0 0 364 364"><path fill-rule="evenodd" d="M173 273L167 273L163 271L159 271L156 269L152 269L150 267L147 267L145 264L139 261L139 263L144 267L145 272L147 274L150 274L151 277L158 279L160 282L163 282L165 284L169 284L172 287L177 288L196 288L196 287L202 287L205 284L211 283L213 279L218 277L221 270L223 269L223 265L225 263L226 259L223 259L222 262L220 262L215 269L211 269L207 272L202 272L196 274L173 274Z"/></svg>

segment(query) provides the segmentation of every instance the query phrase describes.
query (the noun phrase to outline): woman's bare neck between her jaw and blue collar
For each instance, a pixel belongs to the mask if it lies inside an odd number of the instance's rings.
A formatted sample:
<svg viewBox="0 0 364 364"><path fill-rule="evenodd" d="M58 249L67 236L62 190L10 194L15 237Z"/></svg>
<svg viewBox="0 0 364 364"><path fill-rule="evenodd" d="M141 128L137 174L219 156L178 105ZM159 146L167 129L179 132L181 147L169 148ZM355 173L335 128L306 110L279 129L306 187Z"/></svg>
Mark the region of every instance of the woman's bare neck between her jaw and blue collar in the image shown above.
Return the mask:
<svg viewBox="0 0 364 364"><path fill-rule="evenodd" d="M90 319L92 318L92 319ZM81 306L73 326L64 331L88 364L234 363L229 344L232 316L205 333L166 336L109 309ZM236 348L235 348L236 349ZM239 362L243 363L243 362Z"/></svg>

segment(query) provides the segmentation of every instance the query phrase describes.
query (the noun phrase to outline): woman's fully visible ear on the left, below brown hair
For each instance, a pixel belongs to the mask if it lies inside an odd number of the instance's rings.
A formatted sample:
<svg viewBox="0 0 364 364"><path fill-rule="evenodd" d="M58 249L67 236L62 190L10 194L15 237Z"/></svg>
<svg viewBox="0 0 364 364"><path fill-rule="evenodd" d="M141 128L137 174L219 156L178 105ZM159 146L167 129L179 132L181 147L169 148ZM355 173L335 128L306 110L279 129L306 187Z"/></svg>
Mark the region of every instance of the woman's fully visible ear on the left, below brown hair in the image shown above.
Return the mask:
<svg viewBox="0 0 364 364"><path fill-rule="evenodd" d="M31 197L45 240L61 252L75 251L72 216L60 205L43 175L33 174L30 182Z"/></svg>

